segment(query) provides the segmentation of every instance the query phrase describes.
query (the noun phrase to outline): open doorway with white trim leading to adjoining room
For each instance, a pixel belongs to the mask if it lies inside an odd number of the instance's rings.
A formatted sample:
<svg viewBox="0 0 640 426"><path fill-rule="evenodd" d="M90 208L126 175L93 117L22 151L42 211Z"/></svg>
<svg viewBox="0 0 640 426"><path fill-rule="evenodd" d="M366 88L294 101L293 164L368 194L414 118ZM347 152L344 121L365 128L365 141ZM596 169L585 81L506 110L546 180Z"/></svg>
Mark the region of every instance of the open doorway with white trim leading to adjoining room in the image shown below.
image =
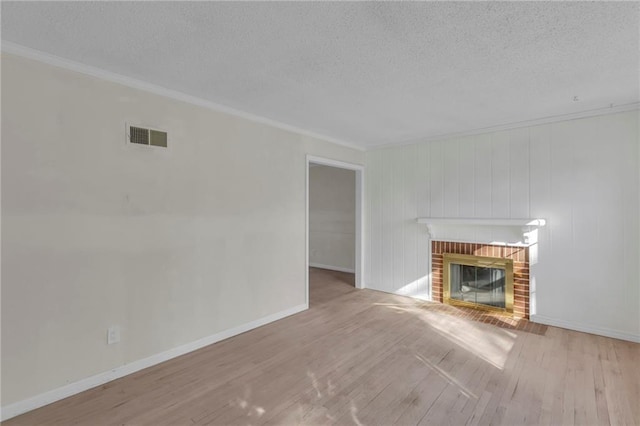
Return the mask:
<svg viewBox="0 0 640 426"><path fill-rule="evenodd" d="M321 280L332 288L314 292L314 302L349 286L364 287L362 174L360 165L307 156L307 306L310 282Z"/></svg>

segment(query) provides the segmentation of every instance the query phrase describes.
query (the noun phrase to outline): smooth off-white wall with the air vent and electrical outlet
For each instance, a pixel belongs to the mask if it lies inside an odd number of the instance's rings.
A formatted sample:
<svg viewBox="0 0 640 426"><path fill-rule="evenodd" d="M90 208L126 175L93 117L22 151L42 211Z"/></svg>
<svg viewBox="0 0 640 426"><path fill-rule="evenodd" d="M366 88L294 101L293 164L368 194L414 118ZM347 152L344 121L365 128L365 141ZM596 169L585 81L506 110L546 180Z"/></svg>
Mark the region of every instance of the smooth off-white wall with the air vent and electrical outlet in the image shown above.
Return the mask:
<svg viewBox="0 0 640 426"><path fill-rule="evenodd" d="M127 146L127 121L170 148ZM3 407L303 309L307 154L364 161L3 54Z"/></svg>

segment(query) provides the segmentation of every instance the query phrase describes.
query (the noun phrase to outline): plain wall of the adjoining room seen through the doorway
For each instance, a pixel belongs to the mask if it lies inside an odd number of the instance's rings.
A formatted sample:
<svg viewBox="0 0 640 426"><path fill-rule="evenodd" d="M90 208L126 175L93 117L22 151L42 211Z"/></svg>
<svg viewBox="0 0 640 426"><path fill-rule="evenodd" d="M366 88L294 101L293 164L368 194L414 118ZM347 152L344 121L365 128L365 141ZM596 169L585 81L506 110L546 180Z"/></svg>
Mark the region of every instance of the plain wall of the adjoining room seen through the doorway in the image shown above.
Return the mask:
<svg viewBox="0 0 640 426"><path fill-rule="evenodd" d="M309 264L355 272L356 173L309 167Z"/></svg>

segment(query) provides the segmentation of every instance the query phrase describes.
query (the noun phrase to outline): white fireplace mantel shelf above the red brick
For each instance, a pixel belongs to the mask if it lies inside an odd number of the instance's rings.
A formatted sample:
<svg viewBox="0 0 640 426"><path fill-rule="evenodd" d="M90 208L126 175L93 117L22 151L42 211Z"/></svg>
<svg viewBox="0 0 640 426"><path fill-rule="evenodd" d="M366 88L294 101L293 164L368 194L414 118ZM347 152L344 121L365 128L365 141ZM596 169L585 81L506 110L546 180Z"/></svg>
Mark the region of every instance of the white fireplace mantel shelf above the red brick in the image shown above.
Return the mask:
<svg viewBox="0 0 640 426"><path fill-rule="evenodd" d="M523 218L523 219L501 219L501 218L462 218L462 217L419 217L417 222L427 226L427 231L432 238L438 238L439 233L436 232L437 227L456 227L456 226L479 226L479 227L495 227L495 228L511 228L514 231L517 228L519 234L523 236L521 244L528 245L533 241L529 241L531 233L538 228L546 225L547 221L541 218Z"/></svg>

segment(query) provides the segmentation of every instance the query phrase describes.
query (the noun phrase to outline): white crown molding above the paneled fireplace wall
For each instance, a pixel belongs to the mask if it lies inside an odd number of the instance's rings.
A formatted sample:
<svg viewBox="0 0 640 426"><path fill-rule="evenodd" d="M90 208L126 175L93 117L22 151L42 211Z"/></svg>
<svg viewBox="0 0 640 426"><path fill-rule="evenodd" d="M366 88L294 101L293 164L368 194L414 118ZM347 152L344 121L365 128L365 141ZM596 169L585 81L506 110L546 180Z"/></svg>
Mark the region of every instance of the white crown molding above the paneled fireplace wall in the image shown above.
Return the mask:
<svg viewBox="0 0 640 426"><path fill-rule="evenodd" d="M640 111L640 102L631 102L627 104L613 105L613 106L604 107L604 108L589 109L585 111L572 112L568 114L551 115L548 117L541 117L541 118L536 118L532 120L516 121L513 123L500 124L497 126L482 127L479 129L473 129L473 130L468 130L464 132L444 133L444 134L429 136L424 138L407 139L402 142L391 142L391 143L371 146L367 148L367 151L375 151L375 150L386 149L386 148L397 148L400 146L415 145L415 144L425 143L425 142L437 142L437 141L461 138L466 136L483 135L487 133L500 132L504 130L521 129L524 127L540 126L543 124L558 123L561 121L579 120L581 118L617 114L617 113L627 112L627 111Z"/></svg>

